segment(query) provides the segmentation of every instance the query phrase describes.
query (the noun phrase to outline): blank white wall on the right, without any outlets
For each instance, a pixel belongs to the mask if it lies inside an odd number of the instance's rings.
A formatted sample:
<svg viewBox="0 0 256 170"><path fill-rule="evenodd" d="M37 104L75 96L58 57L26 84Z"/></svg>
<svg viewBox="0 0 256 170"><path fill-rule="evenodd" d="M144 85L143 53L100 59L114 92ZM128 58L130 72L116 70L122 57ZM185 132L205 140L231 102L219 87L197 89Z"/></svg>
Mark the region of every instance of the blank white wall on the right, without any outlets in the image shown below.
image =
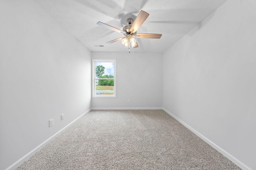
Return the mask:
<svg viewBox="0 0 256 170"><path fill-rule="evenodd" d="M163 59L164 109L244 169L256 169L255 9L228 0Z"/></svg>

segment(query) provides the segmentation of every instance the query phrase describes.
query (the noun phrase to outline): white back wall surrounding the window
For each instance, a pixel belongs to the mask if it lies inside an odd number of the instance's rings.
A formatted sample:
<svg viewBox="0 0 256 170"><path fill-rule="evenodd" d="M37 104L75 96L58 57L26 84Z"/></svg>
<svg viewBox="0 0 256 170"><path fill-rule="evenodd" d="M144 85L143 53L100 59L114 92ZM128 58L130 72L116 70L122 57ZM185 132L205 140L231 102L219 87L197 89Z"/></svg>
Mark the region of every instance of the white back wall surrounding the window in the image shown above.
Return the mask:
<svg viewBox="0 0 256 170"><path fill-rule="evenodd" d="M92 108L162 107L162 53L92 52L92 59L116 59L117 67L117 97L92 98Z"/></svg>

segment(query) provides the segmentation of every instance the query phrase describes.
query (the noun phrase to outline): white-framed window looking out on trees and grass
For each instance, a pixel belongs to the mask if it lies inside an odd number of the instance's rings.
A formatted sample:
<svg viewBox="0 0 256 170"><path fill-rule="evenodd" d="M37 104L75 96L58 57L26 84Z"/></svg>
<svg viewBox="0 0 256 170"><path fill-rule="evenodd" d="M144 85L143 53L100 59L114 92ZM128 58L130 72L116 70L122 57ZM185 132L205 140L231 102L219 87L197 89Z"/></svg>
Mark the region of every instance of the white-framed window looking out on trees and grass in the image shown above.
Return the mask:
<svg viewBox="0 0 256 170"><path fill-rule="evenodd" d="M92 59L92 97L116 97L116 60Z"/></svg>

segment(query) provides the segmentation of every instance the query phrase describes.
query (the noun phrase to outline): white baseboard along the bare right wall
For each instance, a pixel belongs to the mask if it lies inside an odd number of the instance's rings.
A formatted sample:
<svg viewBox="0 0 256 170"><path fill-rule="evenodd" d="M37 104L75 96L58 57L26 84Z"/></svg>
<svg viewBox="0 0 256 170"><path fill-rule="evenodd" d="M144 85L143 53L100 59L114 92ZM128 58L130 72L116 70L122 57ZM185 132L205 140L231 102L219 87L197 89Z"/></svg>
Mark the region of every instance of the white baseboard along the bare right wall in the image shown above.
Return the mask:
<svg viewBox="0 0 256 170"><path fill-rule="evenodd" d="M198 137L200 137L202 140L204 140L206 143L208 143L211 147L216 149L218 152L220 152L223 156L234 162L237 166L242 168L243 170L252 170L250 167L246 166L243 162L226 152L224 149L218 147L215 143L204 137L201 133L190 127L188 124L186 124L184 121L180 120L178 117L167 111L166 109L162 108L166 113L168 113L170 116L172 116L174 119L176 119L178 122L180 122L182 125L184 125L186 128L188 128L190 131L192 131L194 134L196 134Z"/></svg>

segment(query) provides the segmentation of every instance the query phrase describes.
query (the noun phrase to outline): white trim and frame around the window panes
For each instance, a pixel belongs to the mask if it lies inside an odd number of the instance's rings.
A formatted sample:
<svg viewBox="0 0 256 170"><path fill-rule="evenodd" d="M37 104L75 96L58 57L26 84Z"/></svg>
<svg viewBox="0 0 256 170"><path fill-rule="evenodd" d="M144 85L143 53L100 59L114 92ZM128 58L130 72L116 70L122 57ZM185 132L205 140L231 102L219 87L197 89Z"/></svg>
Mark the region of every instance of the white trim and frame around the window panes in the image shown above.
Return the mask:
<svg viewBox="0 0 256 170"><path fill-rule="evenodd" d="M111 80L114 79L114 95L96 95L95 62L114 62L114 78L110 78ZM100 80L102 78L97 78L97 79ZM92 97L93 98L116 98L116 59L92 59Z"/></svg>

